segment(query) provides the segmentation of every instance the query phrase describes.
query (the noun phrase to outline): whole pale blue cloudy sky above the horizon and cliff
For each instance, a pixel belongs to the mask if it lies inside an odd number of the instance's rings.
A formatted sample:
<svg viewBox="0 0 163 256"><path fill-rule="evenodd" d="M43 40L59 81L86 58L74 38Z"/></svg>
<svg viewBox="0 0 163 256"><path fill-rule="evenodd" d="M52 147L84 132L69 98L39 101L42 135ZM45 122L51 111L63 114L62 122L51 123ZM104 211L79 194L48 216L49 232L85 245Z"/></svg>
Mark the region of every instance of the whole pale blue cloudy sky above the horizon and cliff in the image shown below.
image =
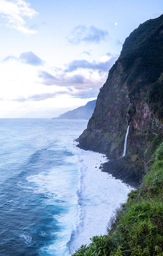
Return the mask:
<svg viewBox="0 0 163 256"><path fill-rule="evenodd" d="M97 98L125 39L163 0L0 0L0 118L52 118Z"/></svg>

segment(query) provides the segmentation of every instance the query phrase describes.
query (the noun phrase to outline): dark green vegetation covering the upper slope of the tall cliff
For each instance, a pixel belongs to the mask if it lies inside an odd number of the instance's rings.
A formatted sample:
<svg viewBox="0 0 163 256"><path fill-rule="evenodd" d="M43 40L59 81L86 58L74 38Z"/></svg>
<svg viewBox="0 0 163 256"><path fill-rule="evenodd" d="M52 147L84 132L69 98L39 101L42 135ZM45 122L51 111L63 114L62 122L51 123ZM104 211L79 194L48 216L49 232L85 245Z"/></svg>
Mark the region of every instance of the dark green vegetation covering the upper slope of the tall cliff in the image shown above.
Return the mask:
<svg viewBox="0 0 163 256"><path fill-rule="evenodd" d="M162 53L163 15L144 22L126 38L119 59L109 71L109 77L111 77L119 63L121 63L123 73L126 74L121 77L121 81L127 84L130 100L133 103L137 102L140 95L143 95L142 92L148 98L148 93L152 89L150 101L154 103L153 108L155 112L159 108L155 104L157 99L159 100L160 107L163 106L163 97L160 94L162 93L163 76L162 81L156 83L163 72Z"/></svg>

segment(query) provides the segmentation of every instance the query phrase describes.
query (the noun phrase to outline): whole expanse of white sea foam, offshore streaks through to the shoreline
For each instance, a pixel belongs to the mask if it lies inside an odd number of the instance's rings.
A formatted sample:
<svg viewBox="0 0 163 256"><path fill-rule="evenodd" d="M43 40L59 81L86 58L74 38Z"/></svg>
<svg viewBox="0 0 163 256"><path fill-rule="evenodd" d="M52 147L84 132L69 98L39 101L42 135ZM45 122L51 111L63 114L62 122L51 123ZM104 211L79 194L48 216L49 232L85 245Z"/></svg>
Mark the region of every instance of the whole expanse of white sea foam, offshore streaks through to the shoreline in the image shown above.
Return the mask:
<svg viewBox="0 0 163 256"><path fill-rule="evenodd" d="M72 142L71 142L72 143ZM101 172L100 165L107 161L105 155L82 150L68 144L73 152L63 166L26 178L33 193L44 193L50 204L64 205L68 211L55 215L60 232L53 245L42 248L49 255L71 255L90 238L106 234L110 217L125 202L131 187L112 175ZM67 164L66 164L67 163Z"/></svg>

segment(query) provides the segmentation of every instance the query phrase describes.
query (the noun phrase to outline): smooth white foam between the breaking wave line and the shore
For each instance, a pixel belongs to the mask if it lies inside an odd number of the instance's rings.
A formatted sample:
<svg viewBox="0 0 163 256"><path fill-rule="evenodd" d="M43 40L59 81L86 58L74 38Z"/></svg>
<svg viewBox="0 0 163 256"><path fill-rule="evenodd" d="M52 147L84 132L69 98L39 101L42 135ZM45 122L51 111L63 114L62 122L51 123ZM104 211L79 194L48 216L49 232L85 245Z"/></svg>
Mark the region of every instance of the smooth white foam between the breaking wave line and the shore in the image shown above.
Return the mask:
<svg viewBox="0 0 163 256"><path fill-rule="evenodd" d="M90 238L106 234L107 224L115 209L125 202L132 187L101 172L100 165L107 161L105 155L74 148L80 158L82 184L79 194L81 223L76 227L68 247L71 254ZM67 253L66 255L69 255Z"/></svg>

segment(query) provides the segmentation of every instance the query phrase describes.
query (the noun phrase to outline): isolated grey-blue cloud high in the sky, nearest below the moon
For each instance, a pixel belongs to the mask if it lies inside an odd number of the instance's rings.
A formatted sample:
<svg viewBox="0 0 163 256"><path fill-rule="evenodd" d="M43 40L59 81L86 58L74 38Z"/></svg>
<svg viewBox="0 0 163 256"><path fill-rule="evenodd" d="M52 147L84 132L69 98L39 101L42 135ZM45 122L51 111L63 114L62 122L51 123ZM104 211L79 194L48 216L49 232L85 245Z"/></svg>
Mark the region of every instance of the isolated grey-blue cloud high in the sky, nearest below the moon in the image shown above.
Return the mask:
<svg viewBox="0 0 163 256"><path fill-rule="evenodd" d="M80 25L75 27L68 36L68 42L73 44L85 43L100 43L101 40L108 38L108 31L98 29L94 26L86 27Z"/></svg>

